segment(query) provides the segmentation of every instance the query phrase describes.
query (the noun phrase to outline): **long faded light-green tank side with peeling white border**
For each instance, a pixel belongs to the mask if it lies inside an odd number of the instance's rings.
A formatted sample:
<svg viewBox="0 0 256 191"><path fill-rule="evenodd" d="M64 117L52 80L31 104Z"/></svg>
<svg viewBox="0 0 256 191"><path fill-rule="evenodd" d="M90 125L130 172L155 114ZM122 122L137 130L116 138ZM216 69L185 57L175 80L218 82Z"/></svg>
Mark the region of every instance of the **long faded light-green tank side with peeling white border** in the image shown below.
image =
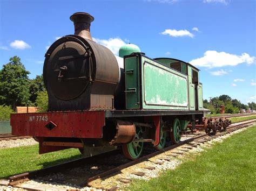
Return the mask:
<svg viewBox="0 0 256 191"><path fill-rule="evenodd" d="M187 75L142 56L143 109L188 110Z"/></svg>

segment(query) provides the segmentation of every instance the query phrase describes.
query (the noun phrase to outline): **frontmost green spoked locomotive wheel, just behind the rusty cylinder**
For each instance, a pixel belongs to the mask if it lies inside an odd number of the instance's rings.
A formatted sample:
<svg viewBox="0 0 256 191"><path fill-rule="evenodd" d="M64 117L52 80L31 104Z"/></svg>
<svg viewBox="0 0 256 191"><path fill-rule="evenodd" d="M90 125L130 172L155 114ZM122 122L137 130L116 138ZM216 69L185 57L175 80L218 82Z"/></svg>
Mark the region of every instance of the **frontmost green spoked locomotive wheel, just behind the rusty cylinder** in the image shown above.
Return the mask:
<svg viewBox="0 0 256 191"><path fill-rule="evenodd" d="M135 139L139 139L139 136L142 135L142 128L136 127ZM126 158L131 160L136 160L142 154L143 142L131 142L126 145L122 145L122 150Z"/></svg>

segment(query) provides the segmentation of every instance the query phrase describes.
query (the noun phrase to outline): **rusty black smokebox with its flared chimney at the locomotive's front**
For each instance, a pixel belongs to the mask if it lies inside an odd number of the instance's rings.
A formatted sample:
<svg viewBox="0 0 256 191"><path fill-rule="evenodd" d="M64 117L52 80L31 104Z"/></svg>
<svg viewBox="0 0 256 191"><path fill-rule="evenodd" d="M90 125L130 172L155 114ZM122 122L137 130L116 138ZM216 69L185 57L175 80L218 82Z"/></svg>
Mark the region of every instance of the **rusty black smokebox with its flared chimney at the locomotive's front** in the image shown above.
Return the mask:
<svg viewBox="0 0 256 191"><path fill-rule="evenodd" d="M91 40L88 13L74 13L75 35L55 41L45 54L49 111L110 110L120 82L114 54Z"/></svg>

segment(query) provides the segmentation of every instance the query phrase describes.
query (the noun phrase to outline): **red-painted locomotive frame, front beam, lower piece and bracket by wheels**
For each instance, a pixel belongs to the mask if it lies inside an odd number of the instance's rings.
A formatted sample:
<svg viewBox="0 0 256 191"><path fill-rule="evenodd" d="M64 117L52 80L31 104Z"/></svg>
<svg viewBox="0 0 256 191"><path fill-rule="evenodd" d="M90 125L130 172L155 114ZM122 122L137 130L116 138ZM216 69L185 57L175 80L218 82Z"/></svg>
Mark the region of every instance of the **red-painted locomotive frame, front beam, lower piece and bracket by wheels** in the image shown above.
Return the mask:
<svg viewBox="0 0 256 191"><path fill-rule="evenodd" d="M153 145L159 144L160 116L145 116L156 126ZM83 148L83 143L49 142L44 138L97 138L103 137L105 111L61 111L11 114L12 134L33 136L38 139L39 153Z"/></svg>

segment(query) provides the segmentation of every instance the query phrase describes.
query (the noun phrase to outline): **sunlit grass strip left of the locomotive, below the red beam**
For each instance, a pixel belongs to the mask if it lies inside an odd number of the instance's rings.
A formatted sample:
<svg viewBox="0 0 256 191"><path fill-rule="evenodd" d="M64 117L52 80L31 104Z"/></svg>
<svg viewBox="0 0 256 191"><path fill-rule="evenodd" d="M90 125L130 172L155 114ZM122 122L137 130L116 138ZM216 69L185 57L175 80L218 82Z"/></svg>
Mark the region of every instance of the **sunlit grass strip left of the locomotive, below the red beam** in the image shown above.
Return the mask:
<svg viewBox="0 0 256 191"><path fill-rule="evenodd" d="M80 158L78 149L38 154L38 145L0 149L0 179Z"/></svg>

